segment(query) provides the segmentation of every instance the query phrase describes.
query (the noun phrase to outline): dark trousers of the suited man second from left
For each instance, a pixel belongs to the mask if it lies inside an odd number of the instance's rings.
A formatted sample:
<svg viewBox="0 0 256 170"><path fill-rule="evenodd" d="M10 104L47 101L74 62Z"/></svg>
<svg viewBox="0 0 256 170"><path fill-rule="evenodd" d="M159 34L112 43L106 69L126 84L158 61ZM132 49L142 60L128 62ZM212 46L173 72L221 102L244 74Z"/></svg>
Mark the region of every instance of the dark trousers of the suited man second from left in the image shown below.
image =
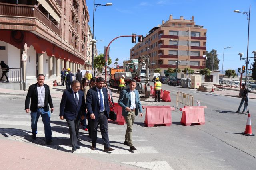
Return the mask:
<svg viewBox="0 0 256 170"><path fill-rule="evenodd" d="M72 147L77 146L77 139L78 139L78 131L79 131L79 124L80 124L80 117L75 120L66 120L68 123L69 129L69 136L71 139Z"/></svg>

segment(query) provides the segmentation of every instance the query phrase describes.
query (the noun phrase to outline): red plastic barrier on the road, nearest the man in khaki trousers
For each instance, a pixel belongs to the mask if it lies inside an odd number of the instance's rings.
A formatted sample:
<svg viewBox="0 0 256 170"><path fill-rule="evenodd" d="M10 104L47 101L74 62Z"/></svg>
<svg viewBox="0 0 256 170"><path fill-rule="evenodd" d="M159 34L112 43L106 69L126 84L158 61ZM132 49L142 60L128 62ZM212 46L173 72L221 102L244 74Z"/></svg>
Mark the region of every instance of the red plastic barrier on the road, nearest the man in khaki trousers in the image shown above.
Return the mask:
<svg viewBox="0 0 256 170"><path fill-rule="evenodd" d="M145 125L153 127L154 125L170 126L172 124L172 110L171 106L142 106L146 108Z"/></svg>

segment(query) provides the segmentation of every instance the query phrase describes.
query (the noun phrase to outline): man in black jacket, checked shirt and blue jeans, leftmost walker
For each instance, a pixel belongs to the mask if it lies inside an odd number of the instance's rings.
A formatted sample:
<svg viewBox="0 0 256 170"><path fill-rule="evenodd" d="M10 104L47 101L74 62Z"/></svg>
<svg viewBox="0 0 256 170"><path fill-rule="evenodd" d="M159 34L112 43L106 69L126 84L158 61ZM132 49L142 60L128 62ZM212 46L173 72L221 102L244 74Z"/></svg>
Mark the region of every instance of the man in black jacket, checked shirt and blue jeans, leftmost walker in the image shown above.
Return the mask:
<svg viewBox="0 0 256 170"><path fill-rule="evenodd" d="M53 143L52 141L52 129L50 125L50 111L49 106L51 108L51 112L54 111L54 107L52 104L52 97L50 94L50 88L48 85L44 84L45 76L44 74L38 74L37 83L32 84L28 88L28 94L25 100L25 110L27 113L31 110L31 129L32 129L32 138L36 139L37 134L37 121L39 116L41 115L43 123L44 123L44 135L46 138L46 144L50 145ZM31 98L31 105L29 109L29 102Z"/></svg>

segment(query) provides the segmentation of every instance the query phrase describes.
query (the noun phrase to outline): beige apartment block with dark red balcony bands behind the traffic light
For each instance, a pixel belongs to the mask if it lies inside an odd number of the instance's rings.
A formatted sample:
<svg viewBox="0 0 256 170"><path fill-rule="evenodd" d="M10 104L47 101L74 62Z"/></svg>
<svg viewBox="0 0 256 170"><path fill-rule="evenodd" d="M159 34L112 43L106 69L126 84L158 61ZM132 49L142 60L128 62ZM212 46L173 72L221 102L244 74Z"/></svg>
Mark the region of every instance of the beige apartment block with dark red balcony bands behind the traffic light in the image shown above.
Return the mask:
<svg viewBox="0 0 256 170"><path fill-rule="evenodd" d="M195 72L205 68L206 29L195 25L194 16L184 19L181 16L169 20L162 25L152 28L143 41L130 49L130 58L138 59L140 55L150 57L150 72L156 68L161 69L160 75L164 76L168 68L192 68ZM172 74L183 78L183 72Z"/></svg>

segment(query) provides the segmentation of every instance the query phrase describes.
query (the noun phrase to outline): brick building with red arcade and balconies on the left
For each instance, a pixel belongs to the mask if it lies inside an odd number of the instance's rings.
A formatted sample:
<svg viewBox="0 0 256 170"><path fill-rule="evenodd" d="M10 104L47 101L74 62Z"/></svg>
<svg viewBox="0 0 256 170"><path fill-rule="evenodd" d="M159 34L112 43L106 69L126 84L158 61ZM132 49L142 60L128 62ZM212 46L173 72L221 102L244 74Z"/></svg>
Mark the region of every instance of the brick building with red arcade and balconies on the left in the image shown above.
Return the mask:
<svg viewBox="0 0 256 170"><path fill-rule="evenodd" d="M26 78L89 68L88 21L85 0L0 0L0 60L9 68L26 68Z"/></svg>

